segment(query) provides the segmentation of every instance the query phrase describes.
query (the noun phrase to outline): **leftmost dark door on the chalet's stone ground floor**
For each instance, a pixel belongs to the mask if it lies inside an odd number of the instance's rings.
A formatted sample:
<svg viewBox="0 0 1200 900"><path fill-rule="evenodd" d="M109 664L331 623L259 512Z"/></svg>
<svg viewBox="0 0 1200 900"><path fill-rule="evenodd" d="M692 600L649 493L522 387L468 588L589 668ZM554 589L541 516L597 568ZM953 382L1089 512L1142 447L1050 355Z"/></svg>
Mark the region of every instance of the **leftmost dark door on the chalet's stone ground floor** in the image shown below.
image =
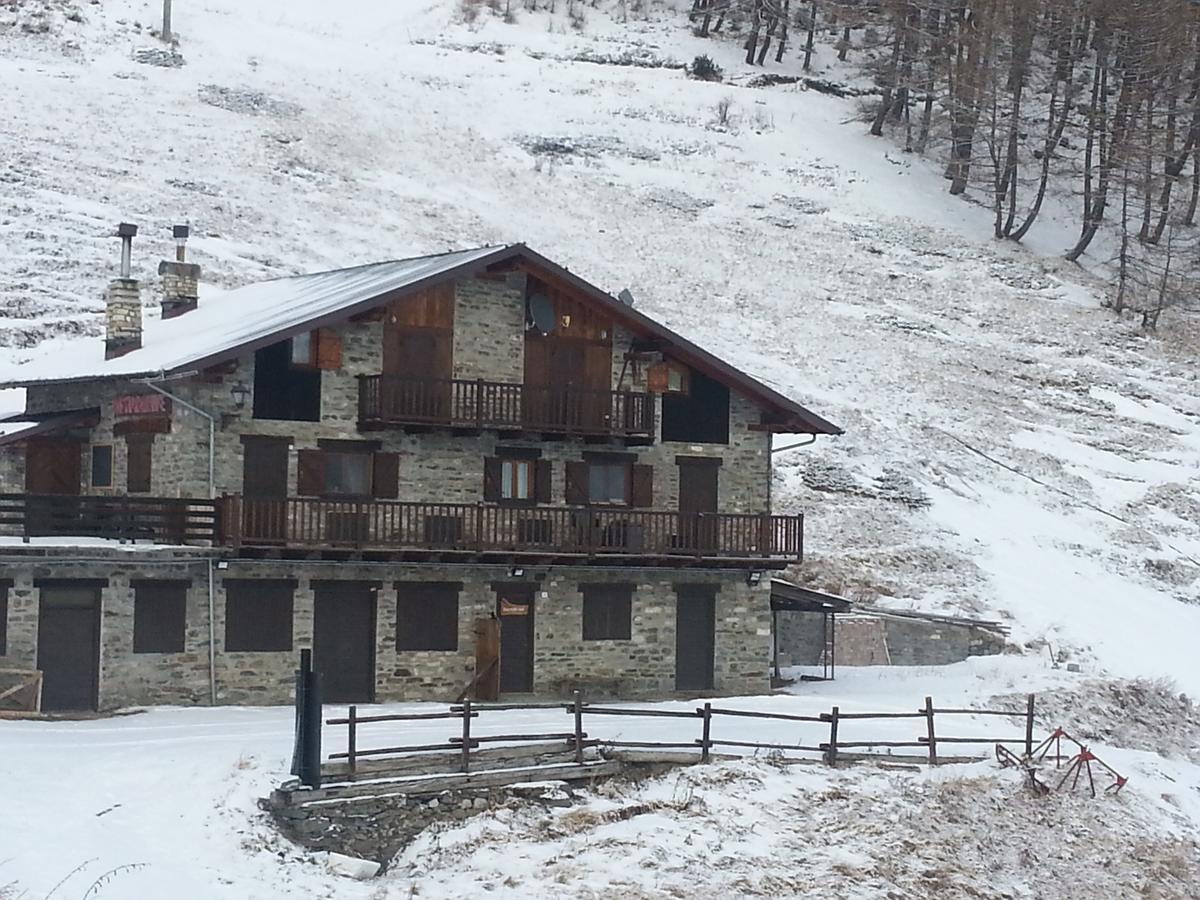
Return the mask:
<svg viewBox="0 0 1200 900"><path fill-rule="evenodd" d="M100 694L100 584L40 584L37 667L42 709L96 709Z"/></svg>

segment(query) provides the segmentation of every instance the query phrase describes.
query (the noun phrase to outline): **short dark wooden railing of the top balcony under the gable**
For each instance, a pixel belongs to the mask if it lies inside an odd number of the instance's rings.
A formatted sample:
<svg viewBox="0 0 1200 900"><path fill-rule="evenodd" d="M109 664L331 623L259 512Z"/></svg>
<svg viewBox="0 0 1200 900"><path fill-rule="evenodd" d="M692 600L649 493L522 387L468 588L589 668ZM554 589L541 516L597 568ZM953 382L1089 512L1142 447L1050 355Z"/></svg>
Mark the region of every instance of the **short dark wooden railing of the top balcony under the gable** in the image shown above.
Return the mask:
<svg viewBox="0 0 1200 900"><path fill-rule="evenodd" d="M359 376L359 422L649 438L654 397L571 385Z"/></svg>

